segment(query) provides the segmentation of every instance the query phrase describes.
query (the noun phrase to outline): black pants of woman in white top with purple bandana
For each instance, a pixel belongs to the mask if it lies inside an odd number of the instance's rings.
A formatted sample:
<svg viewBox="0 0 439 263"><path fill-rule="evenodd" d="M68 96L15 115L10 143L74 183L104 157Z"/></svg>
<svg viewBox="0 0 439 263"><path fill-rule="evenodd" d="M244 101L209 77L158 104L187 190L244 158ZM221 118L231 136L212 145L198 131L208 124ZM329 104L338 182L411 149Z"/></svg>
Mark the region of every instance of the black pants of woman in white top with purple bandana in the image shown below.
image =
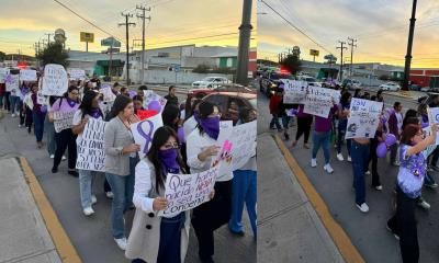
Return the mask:
<svg viewBox="0 0 439 263"><path fill-rule="evenodd" d="M193 209L192 226L199 240L201 259L214 254L213 232L227 224L232 214L232 180L215 183L215 196Z"/></svg>

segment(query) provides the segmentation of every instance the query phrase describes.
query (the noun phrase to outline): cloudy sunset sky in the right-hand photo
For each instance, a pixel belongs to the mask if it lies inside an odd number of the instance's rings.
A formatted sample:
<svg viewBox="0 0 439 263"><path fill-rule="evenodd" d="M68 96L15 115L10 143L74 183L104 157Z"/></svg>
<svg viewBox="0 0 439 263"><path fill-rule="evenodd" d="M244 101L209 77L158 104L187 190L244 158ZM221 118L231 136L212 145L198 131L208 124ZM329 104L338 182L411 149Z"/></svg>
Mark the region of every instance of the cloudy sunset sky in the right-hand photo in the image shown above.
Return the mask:
<svg viewBox="0 0 439 263"><path fill-rule="evenodd" d="M404 65L412 0L263 0L340 60L338 41L358 39L353 62ZM412 67L439 67L439 1L417 4ZM258 57L278 61L278 54L300 46L303 59L318 47L263 2L258 1ZM350 49L347 50L347 58ZM303 56L302 56L303 55ZM350 58L349 58L350 59Z"/></svg>

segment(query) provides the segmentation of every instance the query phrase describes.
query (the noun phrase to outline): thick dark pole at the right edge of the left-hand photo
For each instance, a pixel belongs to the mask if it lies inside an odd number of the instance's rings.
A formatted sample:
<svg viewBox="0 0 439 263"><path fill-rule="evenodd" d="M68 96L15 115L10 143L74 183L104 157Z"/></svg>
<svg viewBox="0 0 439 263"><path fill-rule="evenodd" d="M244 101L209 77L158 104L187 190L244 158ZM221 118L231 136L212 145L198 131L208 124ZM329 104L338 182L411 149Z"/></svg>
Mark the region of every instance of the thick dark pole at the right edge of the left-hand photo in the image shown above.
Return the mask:
<svg viewBox="0 0 439 263"><path fill-rule="evenodd" d="M239 26L239 47L238 66L236 72L236 82L247 85L248 82L248 52L250 48L251 23L251 3L252 0L244 0L243 21Z"/></svg>

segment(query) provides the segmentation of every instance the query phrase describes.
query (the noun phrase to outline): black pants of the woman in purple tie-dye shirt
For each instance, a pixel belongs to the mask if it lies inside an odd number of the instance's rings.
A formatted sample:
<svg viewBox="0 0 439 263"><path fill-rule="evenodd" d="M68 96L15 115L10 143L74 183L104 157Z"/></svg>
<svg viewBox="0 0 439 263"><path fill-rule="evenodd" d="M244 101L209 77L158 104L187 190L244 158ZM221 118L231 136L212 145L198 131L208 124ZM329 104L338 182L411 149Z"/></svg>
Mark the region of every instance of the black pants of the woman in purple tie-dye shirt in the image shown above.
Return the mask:
<svg viewBox="0 0 439 263"><path fill-rule="evenodd" d="M387 226L399 236L399 249L404 263L419 261L415 207L416 199L407 197L399 187L396 187L396 214L387 221Z"/></svg>

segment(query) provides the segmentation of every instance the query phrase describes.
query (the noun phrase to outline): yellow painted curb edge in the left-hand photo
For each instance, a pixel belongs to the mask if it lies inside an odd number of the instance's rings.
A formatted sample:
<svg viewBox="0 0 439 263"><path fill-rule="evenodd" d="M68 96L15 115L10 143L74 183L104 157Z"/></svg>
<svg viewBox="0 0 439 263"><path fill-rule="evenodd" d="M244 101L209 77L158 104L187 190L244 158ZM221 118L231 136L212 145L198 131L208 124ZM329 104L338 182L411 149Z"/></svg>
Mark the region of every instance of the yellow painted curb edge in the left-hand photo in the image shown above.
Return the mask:
<svg viewBox="0 0 439 263"><path fill-rule="evenodd" d="M64 263L80 263L82 262L79 258L75 247L71 244L70 238L67 236L59 222L59 219L44 194L38 181L27 160L24 157L20 157L20 165L23 169L25 181L31 188L35 204L43 217L44 224L46 225L47 231L49 232L52 240L55 244L56 251Z"/></svg>

